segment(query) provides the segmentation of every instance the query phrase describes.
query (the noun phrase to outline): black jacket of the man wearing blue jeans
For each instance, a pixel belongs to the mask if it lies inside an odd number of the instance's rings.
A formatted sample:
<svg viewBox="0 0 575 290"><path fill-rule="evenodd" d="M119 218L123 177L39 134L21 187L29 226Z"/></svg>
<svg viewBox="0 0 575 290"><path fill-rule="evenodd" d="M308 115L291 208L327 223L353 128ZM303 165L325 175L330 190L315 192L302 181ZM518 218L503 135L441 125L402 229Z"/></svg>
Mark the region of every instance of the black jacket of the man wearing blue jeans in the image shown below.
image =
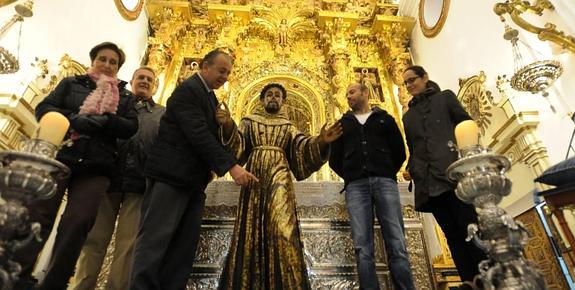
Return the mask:
<svg viewBox="0 0 575 290"><path fill-rule="evenodd" d="M331 144L329 166L345 183L370 176L396 180L406 154L393 117L375 107L363 125L352 112L340 122L343 135Z"/></svg>

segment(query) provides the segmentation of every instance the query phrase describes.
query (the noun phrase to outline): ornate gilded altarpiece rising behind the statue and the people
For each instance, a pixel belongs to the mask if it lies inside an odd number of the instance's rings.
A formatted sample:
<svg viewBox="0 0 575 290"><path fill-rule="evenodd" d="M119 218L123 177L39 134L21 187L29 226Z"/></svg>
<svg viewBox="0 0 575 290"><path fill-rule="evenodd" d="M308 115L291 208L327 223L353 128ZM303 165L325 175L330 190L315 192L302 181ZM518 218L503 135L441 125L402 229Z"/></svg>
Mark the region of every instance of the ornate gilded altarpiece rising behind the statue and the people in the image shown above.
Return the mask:
<svg viewBox="0 0 575 290"><path fill-rule="evenodd" d="M147 8L152 28L148 62L164 80L161 103L197 70L203 55L219 47L233 54L234 71L216 95L236 121L250 113L258 90L271 81L286 85L290 117L300 130L313 134L349 109L345 90L353 81L368 85L372 105L397 119L406 104L397 104L393 96L397 87L400 94L405 91L395 72L401 71L396 65L410 63L403 60L415 21L397 16L396 4L150 0Z"/></svg>

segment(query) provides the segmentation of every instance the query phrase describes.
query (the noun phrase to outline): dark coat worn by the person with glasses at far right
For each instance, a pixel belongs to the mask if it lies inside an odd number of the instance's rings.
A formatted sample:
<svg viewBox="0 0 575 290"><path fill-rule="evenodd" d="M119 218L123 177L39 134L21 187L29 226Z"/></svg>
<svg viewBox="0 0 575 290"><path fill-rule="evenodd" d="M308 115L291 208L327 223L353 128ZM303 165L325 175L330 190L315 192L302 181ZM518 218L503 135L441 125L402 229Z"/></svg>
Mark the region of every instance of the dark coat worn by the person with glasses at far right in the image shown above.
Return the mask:
<svg viewBox="0 0 575 290"><path fill-rule="evenodd" d="M403 126L410 157L408 169L415 182L415 207L430 211L430 196L455 189L447 179L445 170L457 160L454 129L469 114L450 90L427 90L409 102L403 115Z"/></svg>

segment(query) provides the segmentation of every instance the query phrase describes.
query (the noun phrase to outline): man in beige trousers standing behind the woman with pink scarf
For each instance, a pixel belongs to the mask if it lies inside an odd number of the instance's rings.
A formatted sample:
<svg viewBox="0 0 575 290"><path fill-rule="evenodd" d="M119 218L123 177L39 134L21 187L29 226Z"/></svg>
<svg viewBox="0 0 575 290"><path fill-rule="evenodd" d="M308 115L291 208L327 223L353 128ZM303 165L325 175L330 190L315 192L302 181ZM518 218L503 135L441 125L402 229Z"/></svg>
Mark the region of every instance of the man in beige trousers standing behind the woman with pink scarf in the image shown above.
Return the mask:
<svg viewBox="0 0 575 290"><path fill-rule="evenodd" d="M118 172L107 196L102 199L96 223L88 235L76 265L76 274L69 289L96 288L106 249L112 238L116 217L118 229L110 275L105 289L128 289L132 251L140 221L140 209L146 180L144 162L158 133L160 117L165 108L152 99L156 75L149 67L134 72L130 85L135 95L139 130L136 135L118 144Z"/></svg>

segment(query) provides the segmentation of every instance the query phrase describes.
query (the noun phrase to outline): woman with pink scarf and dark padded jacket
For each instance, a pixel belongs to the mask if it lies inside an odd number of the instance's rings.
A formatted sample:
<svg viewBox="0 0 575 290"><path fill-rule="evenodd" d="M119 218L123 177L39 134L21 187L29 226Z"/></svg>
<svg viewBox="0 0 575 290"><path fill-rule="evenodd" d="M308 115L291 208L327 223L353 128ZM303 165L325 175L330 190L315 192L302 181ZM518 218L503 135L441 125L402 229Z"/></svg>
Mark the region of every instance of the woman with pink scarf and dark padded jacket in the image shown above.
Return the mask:
<svg viewBox="0 0 575 290"><path fill-rule="evenodd" d="M64 191L68 191L52 258L39 289L66 289L94 224L100 199L110 185L116 140L131 137L138 129L132 93L125 89L126 82L116 78L125 61L124 52L116 44L104 42L90 50L90 60L92 65L86 75L63 79L36 107L38 119L47 112L65 115L70 121L68 137L73 141L61 148L56 157L72 171L68 183L50 200L33 205L32 218L42 223L45 241ZM23 263L23 274L31 270L41 247L36 248L23 250L27 252L24 256L29 256Z"/></svg>

